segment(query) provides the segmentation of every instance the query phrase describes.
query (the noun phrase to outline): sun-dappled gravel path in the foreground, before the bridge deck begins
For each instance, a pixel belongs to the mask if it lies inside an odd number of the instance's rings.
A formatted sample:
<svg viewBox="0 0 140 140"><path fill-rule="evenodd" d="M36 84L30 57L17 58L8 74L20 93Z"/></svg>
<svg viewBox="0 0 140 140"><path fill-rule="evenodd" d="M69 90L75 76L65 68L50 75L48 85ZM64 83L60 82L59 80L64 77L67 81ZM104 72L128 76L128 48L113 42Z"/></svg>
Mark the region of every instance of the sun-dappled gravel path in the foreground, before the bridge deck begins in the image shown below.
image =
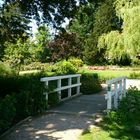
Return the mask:
<svg viewBox="0 0 140 140"><path fill-rule="evenodd" d="M29 119L2 140L77 140L93 119L65 114L47 114Z"/></svg>

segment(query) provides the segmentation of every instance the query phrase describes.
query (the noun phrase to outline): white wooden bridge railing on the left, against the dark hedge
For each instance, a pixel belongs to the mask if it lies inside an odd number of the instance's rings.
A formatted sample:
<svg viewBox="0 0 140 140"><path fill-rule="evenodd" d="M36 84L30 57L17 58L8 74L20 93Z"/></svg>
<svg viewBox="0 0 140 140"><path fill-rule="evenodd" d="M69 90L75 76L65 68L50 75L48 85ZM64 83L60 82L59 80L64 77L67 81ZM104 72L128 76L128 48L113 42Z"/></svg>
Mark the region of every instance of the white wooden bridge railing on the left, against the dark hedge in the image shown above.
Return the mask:
<svg viewBox="0 0 140 140"><path fill-rule="evenodd" d="M81 77L81 74L73 74L73 75L63 75L63 76L53 76L53 77L44 77L44 78L41 78L41 82L44 82L45 83L45 86L47 88L49 88L49 82L50 81L55 81L57 80L57 87L55 89L53 89L52 91L49 91L49 92L45 92L44 94L46 95L46 100L49 100L48 99L48 94L51 94L51 93L54 93L54 92L57 92L58 93L58 97L59 97L59 102L61 101L64 101L66 99L69 99L69 98L72 98L74 96L78 96L80 95L80 86L81 86L81 83L80 83L80 77ZM72 79L73 78L76 78L76 83L72 83ZM68 80L68 85L66 86L63 86L62 85L62 80L63 79L67 79ZM72 88L76 88L76 94L72 94ZM68 90L68 96L67 97L64 97L62 98L62 90Z"/></svg>

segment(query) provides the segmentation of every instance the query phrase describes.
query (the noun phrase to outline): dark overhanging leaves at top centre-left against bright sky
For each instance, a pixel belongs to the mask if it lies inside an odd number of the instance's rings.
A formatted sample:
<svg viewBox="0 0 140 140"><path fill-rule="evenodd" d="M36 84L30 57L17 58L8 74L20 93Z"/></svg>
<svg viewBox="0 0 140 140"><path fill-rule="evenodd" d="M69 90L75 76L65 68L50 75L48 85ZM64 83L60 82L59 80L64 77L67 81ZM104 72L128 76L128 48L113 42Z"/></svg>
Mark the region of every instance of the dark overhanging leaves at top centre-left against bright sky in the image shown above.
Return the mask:
<svg viewBox="0 0 140 140"><path fill-rule="evenodd" d="M5 0L5 4L14 3L15 0ZM77 4L76 0L66 1L18 1L21 11L25 12L30 17L34 17L39 22L46 22L52 24L54 27L61 27L61 23L65 18L72 18L77 11L77 7L81 4L87 3L85 0L79 0ZM40 16L39 13L42 13Z"/></svg>

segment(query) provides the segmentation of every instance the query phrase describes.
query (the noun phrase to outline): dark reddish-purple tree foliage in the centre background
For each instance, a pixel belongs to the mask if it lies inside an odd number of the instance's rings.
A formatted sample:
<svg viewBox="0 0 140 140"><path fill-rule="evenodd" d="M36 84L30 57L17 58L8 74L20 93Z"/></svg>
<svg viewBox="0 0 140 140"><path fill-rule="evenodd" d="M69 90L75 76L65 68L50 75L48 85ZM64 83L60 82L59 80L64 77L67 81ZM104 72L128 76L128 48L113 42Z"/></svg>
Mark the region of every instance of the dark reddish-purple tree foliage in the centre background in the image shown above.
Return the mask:
<svg viewBox="0 0 140 140"><path fill-rule="evenodd" d="M70 57L81 57L82 40L74 33L60 33L53 41L49 43L49 49L51 51L51 60L58 62L63 59L69 59Z"/></svg>

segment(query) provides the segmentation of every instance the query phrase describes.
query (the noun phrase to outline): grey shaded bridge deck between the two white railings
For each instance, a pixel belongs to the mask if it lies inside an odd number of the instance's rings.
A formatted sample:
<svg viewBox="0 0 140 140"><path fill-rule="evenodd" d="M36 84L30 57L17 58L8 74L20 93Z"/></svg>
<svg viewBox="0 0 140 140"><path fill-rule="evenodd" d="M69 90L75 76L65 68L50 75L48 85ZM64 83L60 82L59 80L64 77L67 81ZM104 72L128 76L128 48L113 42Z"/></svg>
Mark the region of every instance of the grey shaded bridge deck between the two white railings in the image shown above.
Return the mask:
<svg viewBox="0 0 140 140"><path fill-rule="evenodd" d="M106 109L105 92L93 95L82 95L68 100L50 112L93 116Z"/></svg>

